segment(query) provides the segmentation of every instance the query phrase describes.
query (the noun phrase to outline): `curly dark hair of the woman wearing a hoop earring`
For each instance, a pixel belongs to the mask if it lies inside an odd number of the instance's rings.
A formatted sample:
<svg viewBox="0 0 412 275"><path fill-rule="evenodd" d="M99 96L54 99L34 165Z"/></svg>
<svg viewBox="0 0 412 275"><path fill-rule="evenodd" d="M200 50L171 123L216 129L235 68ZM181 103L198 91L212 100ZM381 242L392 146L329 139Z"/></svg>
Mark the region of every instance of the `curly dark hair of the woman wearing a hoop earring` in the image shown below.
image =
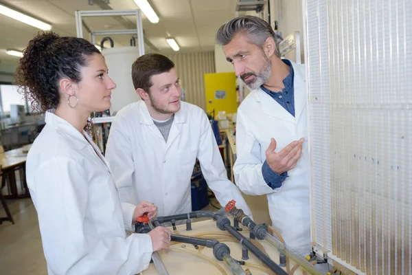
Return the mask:
<svg viewBox="0 0 412 275"><path fill-rule="evenodd" d="M89 41L77 37L60 37L55 32L38 32L29 42L16 69L19 92L32 104L32 109L56 109L60 102L59 81L82 80L81 69L87 57L100 54Z"/></svg>

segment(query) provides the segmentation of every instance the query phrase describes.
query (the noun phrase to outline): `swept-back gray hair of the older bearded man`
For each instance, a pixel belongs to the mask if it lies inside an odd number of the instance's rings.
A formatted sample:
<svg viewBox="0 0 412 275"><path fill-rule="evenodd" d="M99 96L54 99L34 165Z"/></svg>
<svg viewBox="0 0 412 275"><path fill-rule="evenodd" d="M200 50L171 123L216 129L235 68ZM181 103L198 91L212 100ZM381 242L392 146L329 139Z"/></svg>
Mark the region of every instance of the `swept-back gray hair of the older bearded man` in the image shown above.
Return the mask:
<svg viewBox="0 0 412 275"><path fill-rule="evenodd" d="M220 26L216 33L216 43L219 45L227 45L236 34L244 34L247 36L249 43L262 47L266 39L269 37L275 41L275 55L280 57L277 50L275 32L271 25L259 17L245 15L236 17L231 21Z"/></svg>

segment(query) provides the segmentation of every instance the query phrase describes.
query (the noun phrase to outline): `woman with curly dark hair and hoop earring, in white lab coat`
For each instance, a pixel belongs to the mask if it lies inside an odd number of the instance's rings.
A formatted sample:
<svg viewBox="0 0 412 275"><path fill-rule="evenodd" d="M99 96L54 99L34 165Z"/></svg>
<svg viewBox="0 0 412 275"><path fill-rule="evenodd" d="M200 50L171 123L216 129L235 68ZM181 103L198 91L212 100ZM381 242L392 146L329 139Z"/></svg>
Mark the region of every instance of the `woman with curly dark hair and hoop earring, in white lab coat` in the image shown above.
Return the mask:
<svg viewBox="0 0 412 275"><path fill-rule="evenodd" d="M23 52L16 80L46 126L27 155L27 185L38 213L49 274L137 274L170 230L131 234L133 221L157 208L122 207L111 170L91 137L89 114L111 107L102 54L84 39L40 32ZM124 210L123 210L124 209Z"/></svg>

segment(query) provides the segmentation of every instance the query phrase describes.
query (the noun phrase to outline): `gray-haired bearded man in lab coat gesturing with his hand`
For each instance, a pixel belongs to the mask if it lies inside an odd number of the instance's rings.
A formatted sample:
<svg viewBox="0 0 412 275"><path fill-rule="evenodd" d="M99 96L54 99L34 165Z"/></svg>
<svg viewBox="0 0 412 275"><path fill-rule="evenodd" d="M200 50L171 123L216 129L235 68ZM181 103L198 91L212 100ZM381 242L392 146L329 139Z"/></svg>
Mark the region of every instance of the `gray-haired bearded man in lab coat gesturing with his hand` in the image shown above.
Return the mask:
<svg viewBox="0 0 412 275"><path fill-rule="evenodd" d="M281 59L271 25L244 16L222 25L223 46L251 94L238 109L236 184L248 195L266 194L272 225L286 245L310 253L310 163L305 67Z"/></svg>

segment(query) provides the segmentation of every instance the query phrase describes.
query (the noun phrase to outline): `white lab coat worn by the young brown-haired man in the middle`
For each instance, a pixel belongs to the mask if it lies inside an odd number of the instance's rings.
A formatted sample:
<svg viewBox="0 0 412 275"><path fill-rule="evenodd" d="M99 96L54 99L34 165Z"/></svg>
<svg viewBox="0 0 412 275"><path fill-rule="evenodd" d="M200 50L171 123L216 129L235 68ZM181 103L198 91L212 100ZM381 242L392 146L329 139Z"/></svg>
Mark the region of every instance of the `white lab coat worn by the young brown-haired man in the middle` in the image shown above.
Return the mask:
<svg viewBox="0 0 412 275"><path fill-rule="evenodd" d="M124 207L150 201L159 207L158 216L192 212L190 179L196 157L220 204L235 199L238 208L251 214L238 187L227 179L207 115L193 104L181 102L168 142L143 100L129 104L117 113L106 146Z"/></svg>

